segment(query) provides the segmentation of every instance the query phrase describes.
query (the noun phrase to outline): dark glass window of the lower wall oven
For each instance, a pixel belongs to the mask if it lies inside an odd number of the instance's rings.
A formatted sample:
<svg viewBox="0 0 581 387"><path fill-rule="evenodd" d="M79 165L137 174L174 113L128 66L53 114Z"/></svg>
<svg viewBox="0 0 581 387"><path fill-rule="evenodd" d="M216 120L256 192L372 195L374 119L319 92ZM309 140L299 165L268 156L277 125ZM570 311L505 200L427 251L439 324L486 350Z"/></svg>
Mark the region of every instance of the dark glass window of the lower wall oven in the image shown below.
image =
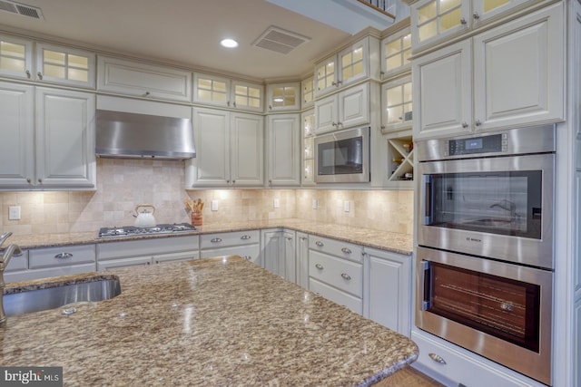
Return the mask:
<svg viewBox="0 0 581 387"><path fill-rule="evenodd" d="M424 283L428 311L539 350L539 285L430 262Z"/></svg>

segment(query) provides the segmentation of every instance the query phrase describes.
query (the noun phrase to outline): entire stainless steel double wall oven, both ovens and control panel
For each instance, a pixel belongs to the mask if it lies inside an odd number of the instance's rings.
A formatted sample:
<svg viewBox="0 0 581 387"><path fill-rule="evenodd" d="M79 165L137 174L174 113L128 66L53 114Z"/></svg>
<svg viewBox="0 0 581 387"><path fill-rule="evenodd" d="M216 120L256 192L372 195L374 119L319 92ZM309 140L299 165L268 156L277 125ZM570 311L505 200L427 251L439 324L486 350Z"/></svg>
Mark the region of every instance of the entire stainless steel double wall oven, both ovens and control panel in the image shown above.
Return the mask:
<svg viewBox="0 0 581 387"><path fill-rule="evenodd" d="M551 384L553 125L419 141L416 325Z"/></svg>

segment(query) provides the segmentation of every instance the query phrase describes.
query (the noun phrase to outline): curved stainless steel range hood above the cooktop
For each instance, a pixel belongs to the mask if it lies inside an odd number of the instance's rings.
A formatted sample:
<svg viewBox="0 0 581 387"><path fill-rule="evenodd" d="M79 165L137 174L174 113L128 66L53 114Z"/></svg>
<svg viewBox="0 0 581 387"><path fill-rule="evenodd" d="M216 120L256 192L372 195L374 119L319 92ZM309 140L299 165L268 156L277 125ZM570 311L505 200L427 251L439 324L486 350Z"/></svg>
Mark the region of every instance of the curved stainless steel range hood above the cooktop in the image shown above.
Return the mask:
<svg viewBox="0 0 581 387"><path fill-rule="evenodd" d="M103 158L192 159L192 120L97 110L95 153Z"/></svg>

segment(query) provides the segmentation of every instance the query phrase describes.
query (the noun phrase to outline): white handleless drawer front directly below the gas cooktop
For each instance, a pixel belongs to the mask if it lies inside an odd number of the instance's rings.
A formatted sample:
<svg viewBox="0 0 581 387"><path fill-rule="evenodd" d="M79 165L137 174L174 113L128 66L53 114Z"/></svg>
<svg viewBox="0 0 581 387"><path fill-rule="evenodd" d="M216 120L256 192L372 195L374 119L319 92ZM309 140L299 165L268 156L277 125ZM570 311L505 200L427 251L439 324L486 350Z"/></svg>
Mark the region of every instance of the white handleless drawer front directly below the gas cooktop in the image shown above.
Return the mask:
<svg viewBox="0 0 581 387"><path fill-rule="evenodd" d="M97 260L198 251L198 236L154 237L97 244Z"/></svg>

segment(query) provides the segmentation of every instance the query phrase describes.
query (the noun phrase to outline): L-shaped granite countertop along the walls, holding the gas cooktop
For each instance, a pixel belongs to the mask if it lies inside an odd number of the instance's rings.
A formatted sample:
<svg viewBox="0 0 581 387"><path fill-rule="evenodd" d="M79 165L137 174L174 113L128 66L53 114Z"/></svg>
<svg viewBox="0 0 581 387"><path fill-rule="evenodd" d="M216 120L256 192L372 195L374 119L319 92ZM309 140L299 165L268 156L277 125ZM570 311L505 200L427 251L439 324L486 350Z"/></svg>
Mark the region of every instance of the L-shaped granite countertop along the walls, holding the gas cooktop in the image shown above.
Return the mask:
<svg viewBox="0 0 581 387"><path fill-rule="evenodd" d="M98 238L97 231L85 233L41 234L27 236L12 236L7 243L15 243L22 248L57 247L64 245L84 245L93 243L107 243L120 240L134 240L152 237L179 237L185 235L213 234L219 232L244 231L264 228L289 228L296 231L331 237L366 247L375 247L389 250L403 255L411 255L413 238L408 234L386 232L378 229L350 227L332 223L304 220L300 218L284 218L272 220L249 220L243 222L217 222L197 227L194 232L163 234L144 237L108 237Z"/></svg>

